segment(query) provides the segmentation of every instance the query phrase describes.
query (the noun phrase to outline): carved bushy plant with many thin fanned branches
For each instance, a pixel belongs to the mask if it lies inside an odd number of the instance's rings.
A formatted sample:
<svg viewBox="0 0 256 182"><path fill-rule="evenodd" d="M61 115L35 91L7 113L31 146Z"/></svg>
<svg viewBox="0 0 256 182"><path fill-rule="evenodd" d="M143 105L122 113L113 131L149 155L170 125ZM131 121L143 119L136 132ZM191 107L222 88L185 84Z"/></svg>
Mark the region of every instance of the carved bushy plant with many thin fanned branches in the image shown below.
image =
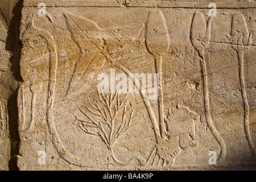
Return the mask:
<svg viewBox="0 0 256 182"><path fill-rule="evenodd" d="M86 119L76 117L85 133L101 137L112 152L118 137L135 125L131 125L135 118L135 107L127 96L125 94L121 97L118 92L98 93L98 97L89 100L84 108L79 109Z"/></svg>

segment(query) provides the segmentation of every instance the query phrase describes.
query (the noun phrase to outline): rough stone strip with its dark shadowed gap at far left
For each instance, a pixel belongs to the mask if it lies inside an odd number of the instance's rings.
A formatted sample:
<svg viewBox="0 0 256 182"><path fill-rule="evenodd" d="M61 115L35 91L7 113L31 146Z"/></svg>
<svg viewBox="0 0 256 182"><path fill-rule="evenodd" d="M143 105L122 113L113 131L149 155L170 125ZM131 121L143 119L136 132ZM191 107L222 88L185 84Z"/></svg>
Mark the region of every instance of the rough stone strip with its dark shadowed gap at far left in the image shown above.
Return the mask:
<svg viewBox="0 0 256 182"><path fill-rule="evenodd" d="M19 24L21 3L0 2L0 169L16 169L18 110L16 89L19 76ZM13 160L14 159L14 160Z"/></svg>

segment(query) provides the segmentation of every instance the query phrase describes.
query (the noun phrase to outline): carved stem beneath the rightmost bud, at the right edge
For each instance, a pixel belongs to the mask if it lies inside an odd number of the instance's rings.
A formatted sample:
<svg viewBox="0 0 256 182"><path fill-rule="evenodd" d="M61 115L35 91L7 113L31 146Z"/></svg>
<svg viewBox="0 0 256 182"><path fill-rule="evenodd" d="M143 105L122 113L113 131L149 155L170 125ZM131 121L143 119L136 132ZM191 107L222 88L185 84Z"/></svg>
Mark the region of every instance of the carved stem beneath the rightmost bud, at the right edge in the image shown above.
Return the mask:
<svg viewBox="0 0 256 182"><path fill-rule="evenodd" d="M251 140L251 135L250 135L250 125L249 125L250 106L247 99L246 87L245 87L245 75L243 72L243 62L244 62L243 60L244 60L245 52L242 46L237 46L237 54L238 54L238 63L239 63L239 78L240 78L240 84L241 84L241 93L243 98L243 110L244 110L243 123L245 125L245 135L249 143L251 152L255 154L253 140Z"/></svg>

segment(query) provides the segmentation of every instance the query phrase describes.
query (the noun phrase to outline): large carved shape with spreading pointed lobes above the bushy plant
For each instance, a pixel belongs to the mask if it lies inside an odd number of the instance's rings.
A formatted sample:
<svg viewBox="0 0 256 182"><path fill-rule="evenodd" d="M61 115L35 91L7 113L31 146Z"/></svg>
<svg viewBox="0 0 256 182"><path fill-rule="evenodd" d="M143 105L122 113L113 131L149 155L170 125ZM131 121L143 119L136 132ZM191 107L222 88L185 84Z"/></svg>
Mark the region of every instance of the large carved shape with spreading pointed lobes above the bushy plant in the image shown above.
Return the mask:
<svg viewBox="0 0 256 182"><path fill-rule="evenodd" d="M80 59L75 65L73 76L69 82L66 96L75 93L83 86L80 81L82 77L87 75L86 72L91 71L89 71L89 68L92 69L94 65L97 65L97 68L100 69L105 64L105 56L99 48L105 46L104 40L133 41L139 36L144 27L144 24L141 24L139 26L101 28L88 18L69 13L64 13L64 16L72 38L81 52ZM98 70L94 70L94 72L96 71ZM78 83L80 83L79 86Z"/></svg>

